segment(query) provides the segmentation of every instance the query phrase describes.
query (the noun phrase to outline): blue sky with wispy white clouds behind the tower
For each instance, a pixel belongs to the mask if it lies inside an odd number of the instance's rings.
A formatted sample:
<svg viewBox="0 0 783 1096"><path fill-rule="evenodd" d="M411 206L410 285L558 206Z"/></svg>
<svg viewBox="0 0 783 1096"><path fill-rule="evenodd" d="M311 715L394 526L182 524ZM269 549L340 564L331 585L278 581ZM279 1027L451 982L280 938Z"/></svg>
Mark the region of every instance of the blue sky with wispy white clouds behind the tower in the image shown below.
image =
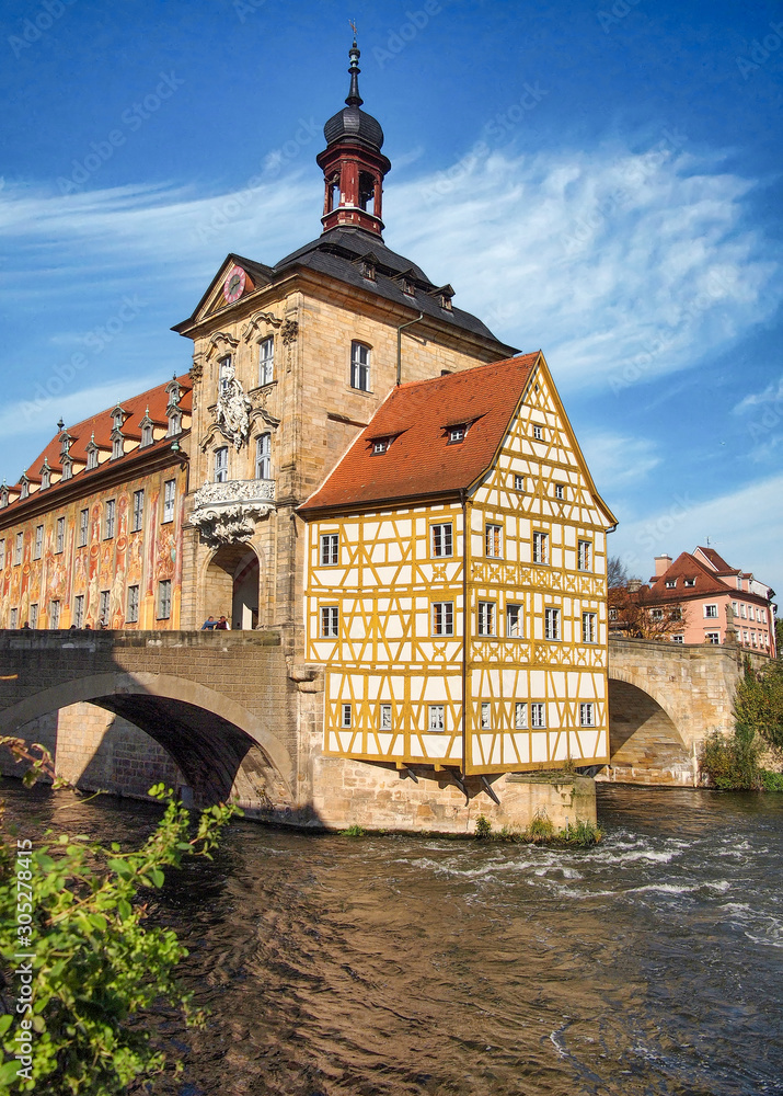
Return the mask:
<svg viewBox="0 0 783 1096"><path fill-rule="evenodd" d="M229 251L319 235L349 18L385 241L543 349L612 550L783 595L779 2L4 0L0 477L185 372Z"/></svg>

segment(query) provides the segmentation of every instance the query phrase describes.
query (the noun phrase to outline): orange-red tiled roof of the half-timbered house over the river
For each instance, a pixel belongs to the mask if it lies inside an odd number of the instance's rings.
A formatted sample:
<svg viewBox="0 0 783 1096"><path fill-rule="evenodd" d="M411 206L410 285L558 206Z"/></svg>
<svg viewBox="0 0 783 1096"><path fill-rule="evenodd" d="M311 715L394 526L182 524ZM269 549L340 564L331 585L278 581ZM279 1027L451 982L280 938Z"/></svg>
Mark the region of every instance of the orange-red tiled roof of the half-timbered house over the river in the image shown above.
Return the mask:
<svg viewBox="0 0 783 1096"><path fill-rule="evenodd" d="M392 389L299 511L457 492L491 466L540 352ZM468 425L449 443L449 426ZM385 453L373 442L391 439Z"/></svg>

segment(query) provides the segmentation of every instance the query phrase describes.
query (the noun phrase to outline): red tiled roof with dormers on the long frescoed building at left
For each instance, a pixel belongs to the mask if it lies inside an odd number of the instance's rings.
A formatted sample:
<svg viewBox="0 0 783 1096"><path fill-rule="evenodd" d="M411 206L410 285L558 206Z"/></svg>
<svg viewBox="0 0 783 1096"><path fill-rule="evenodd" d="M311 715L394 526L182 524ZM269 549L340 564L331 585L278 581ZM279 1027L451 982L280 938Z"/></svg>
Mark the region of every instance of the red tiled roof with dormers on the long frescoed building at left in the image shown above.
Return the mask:
<svg viewBox="0 0 783 1096"><path fill-rule="evenodd" d="M180 399L180 410L183 414L189 415L193 410L193 386L191 384L191 378L187 374L182 377L174 377L174 380L180 385L181 399ZM125 421L122 427L123 435L131 441L139 441L141 438L141 430L139 427L140 421L143 419L147 409L149 408L149 416L157 426L165 426L168 424L166 419L166 407L169 404L169 395L165 389L170 381L164 381L162 385L158 385L156 388L150 388L149 391L141 392L139 396L131 396L127 400L123 400L119 407L126 412ZM117 404L115 404L116 407ZM41 483L41 469L44 465L44 460L48 459L49 468L55 472L60 472L62 470L61 465L61 443L60 438L62 434L69 434L72 438L71 446L69 449L69 455L73 459L74 465L87 465L87 446L90 443L94 434L95 445L100 449L111 452L112 449L112 432L114 430L114 421L112 419L112 411L114 408L107 408L105 411L99 411L97 414L91 415L89 419L84 419L82 422L76 423L73 426L66 426L64 431L58 432L48 443L46 448L31 461L27 466L27 479L31 483ZM154 442L149 447L146 447L143 453L152 453L160 449L162 446L171 444L171 438L162 437ZM137 454L137 449L125 454L125 458L134 457ZM101 468L105 465L101 465ZM116 467L116 461L114 463ZM73 476L70 480L66 482L72 483L80 476L85 472L85 468L77 471L74 469ZM92 469L89 475L93 476L99 469ZM18 483L20 479L16 481ZM47 489L47 495L58 489L61 481L53 483L50 488ZM65 486L65 484L64 484ZM13 486L12 486L13 489ZM35 492L37 494L37 492ZM30 498L34 498L31 494ZM9 505L3 510L3 514L8 513L13 506L24 504L27 499L15 499L13 502L9 501Z"/></svg>

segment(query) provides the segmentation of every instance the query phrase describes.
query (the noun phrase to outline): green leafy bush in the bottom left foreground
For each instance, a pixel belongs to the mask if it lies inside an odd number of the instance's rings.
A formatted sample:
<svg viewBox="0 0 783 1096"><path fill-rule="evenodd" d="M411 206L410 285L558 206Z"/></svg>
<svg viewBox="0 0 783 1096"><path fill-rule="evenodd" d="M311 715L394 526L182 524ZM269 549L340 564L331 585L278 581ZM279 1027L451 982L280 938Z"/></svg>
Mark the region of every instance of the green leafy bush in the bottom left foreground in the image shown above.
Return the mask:
<svg viewBox="0 0 783 1096"><path fill-rule="evenodd" d="M32 747L34 755L21 739L0 744L31 764L27 784L54 779L43 747ZM172 929L145 926L139 899L163 886L164 868L209 858L239 812L212 807L194 826L171 790L158 785L150 795L166 807L136 852L53 831L37 844L2 829L0 1094L118 1096L134 1081L180 1069L145 1024L153 1005L203 1026L204 1014L174 977L187 951Z"/></svg>

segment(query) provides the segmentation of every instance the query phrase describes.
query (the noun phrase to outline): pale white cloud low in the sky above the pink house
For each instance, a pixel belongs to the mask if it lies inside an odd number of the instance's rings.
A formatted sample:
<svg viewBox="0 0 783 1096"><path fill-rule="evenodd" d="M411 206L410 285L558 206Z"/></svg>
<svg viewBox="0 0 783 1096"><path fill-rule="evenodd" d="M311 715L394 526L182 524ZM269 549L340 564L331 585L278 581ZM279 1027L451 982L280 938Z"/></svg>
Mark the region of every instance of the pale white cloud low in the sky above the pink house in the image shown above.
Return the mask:
<svg viewBox="0 0 783 1096"><path fill-rule="evenodd" d="M649 578L653 557L677 558L706 545L707 538L732 567L741 567L783 595L783 473L748 483L727 494L696 501L673 492L657 514L621 524L609 540L609 551L629 570Z"/></svg>

